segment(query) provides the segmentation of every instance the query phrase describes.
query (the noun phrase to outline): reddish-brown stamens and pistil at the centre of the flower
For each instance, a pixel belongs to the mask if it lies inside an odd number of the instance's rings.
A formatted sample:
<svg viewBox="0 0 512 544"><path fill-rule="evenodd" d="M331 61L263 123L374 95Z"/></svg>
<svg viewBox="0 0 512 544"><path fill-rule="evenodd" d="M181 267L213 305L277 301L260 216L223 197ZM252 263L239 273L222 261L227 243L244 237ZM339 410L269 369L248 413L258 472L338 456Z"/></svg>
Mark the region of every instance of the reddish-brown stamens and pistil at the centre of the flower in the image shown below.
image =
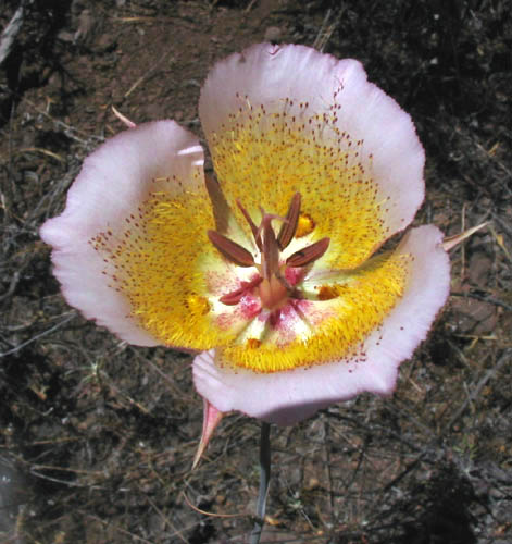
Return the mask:
<svg viewBox="0 0 512 544"><path fill-rule="evenodd" d="M237 305L246 293L251 292L259 296L262 308L278 312L289 299L301 298L297 284L304 274L297 273L295 269L303 269L320 259L327 251L330 239L322 238L285 259L283 252L301 228L300 193L291 198L285 218L261 209L259 226L239 201L237 205L251 228L260 254L259 262L243 246L216 231L208 231L208 237L227 260L238 267L254 267L258 275L251 282L242 282L240 288L223 295L220 300L227 306ZM276 220L282 222L277 236L272 225Z"/></svg>

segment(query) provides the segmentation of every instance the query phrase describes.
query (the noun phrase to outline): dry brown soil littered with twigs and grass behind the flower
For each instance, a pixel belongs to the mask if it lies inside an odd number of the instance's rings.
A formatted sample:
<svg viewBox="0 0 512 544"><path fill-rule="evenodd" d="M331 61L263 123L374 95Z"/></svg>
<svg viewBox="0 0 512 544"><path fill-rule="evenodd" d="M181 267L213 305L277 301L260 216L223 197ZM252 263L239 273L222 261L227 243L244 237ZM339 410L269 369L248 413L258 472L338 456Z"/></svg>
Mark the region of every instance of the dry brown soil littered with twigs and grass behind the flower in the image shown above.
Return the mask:
<svg viewBox="0 0 512 544"><path fill-rule="evenodd" d="M415 223L488 224L451 252L449 302L392 397L272 429L262 542L512 542L507 2L7 0L1 28L21 3L0 65L2 542L247 542L259 422L225 418L191 471L190 356L132 347L70 308L38 228L123 129L112 106L201 136L209 67L265 39L359 59L411 113L427 156Z"/></svg>

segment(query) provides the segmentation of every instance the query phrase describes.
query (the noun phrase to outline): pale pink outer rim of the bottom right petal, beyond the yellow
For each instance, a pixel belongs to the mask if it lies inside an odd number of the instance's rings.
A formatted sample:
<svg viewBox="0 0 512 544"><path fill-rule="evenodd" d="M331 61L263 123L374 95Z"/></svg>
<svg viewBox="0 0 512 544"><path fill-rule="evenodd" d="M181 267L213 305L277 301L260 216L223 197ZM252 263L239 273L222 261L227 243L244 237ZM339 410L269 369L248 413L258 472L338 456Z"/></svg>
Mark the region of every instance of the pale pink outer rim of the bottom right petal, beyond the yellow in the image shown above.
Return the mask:
<svg viewBox="0 0 512 544"><path fill-rule="evenodd" d="M279 425L294 424L362 392L390 394L400 362L425 339L448 297L450 267L441 242L441 232L432 225L404 236L397 251L414 257L405 294L366 339L362 360L258 374L221 367L210 350L193 361L197 391L221 411L239 410Z"/></svg>

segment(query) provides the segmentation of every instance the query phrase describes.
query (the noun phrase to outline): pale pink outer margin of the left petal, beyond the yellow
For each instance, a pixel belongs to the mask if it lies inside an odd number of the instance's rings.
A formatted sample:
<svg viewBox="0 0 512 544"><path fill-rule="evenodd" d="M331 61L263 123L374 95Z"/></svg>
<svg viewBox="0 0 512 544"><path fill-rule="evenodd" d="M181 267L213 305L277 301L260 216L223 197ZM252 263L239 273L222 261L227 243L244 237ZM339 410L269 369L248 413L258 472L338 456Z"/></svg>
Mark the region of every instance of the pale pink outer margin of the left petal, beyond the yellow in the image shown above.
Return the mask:
<svg viewBox="0 0 512 544"><path fill-rule="evenodd" d="M115 232L150 190L176 195L201 187L202 164L197 137L174 121L124 131L85 160L68 190L65 210L41 227L41 238L53 246L54 274L67 302L130 344L154 346L159 342L127 318L126 299L109 287L102 273L104 262L88 242L101 231ZM182 185L170 178L173 175Z"/></svg>

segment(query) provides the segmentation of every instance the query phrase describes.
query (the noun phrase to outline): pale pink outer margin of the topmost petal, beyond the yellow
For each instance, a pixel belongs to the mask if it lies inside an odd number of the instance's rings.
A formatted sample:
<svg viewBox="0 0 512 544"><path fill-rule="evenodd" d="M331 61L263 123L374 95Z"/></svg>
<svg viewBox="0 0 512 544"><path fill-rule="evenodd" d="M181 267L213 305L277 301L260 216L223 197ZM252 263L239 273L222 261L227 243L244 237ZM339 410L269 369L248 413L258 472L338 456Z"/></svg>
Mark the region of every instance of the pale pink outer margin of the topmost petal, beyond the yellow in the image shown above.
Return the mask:
<svg viewBox="0 0 512 544"><path fill-rule="evenodd" d="M311 114L327 115L329 107L339 103L337 126L353 143L364 140L360 159L369 170L373 168L378 200L388 198L388 235L412 221L424 197L423 147L411 118L367 82L358 61L292 45L260 44L232 54L214 66L201 91L199 114L210 144L213 132L233 122L229 114L246 108L246 96L254 107L263 104L267 113L284 111L286 98L294 100L291 110L297 115L302 111L299 102L308 102Z"/></svg>

